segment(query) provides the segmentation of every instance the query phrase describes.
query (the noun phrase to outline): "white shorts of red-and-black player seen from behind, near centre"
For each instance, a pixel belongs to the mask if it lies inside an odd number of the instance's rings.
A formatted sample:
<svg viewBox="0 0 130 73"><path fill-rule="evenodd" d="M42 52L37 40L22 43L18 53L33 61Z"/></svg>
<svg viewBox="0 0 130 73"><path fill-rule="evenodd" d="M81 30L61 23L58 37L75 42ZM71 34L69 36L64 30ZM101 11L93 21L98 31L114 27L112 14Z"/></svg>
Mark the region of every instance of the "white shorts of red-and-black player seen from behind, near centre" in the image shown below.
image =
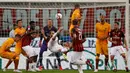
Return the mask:
<svg viewBox="0 0 130 73"><path fill-rule="evenodd" d="M77 60L82 59L82 53L83 52L72 52L70 62L75 63Z"/></svg>

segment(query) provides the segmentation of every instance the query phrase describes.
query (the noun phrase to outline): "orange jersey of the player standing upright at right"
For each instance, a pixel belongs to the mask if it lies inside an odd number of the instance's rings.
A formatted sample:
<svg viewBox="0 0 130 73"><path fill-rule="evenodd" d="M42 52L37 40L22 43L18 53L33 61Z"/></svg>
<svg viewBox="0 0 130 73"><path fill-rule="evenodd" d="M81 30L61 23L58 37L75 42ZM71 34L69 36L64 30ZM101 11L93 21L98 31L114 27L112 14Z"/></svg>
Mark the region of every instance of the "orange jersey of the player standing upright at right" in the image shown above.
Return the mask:
<svg viewBox="0 0 130 73"><path fill-rule="evenodd" d="M104 24L101 24L101 23L96 24L97 37L99 37L99 38L108 37L110 31L111 31L111 26L107 22L105 22ZM97 39L97 43L99 41L100 40ZM104 40L104 42L107 43L107 40Z"/></svg>

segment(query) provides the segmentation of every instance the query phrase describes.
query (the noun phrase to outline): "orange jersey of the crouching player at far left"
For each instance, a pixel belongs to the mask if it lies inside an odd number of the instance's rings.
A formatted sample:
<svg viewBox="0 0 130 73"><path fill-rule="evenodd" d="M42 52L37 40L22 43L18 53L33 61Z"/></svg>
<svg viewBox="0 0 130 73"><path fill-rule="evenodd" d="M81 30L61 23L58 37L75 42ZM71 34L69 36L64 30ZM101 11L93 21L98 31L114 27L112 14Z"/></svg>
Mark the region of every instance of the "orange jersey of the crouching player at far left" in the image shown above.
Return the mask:
<svg viewBox="0 0 130 73"><path fill-rule="evenodd" d="M8 38L0 47L0 52L8 51L12 44L14 43L13 38Z"/></svg>

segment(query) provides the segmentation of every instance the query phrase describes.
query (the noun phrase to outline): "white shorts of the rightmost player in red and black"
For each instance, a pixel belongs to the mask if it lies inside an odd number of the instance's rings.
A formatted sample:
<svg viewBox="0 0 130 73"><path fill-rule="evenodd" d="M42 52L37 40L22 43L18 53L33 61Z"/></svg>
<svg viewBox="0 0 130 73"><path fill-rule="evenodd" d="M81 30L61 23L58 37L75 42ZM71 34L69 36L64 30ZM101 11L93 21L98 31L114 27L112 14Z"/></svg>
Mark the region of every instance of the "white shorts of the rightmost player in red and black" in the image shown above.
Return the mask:
<svg viewBox="0 0 130 73"><path fill-rule="evenodd" d="M114 46L111 48L110 54L116 55L116 53L119 52L120 54L125 53L125 49L123 46Z"/></svg>

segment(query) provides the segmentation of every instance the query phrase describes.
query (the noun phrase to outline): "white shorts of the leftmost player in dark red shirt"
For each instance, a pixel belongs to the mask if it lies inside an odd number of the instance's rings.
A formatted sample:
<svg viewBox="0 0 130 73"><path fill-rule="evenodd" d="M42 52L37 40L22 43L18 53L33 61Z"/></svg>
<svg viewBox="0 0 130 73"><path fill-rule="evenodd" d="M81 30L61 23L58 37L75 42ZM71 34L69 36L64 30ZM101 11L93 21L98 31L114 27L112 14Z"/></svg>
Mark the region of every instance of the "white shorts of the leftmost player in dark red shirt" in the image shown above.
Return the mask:
<svg viewBox="0 0 130 73"><path fill-rule="evenodd" d="M36 56L39 54L40 48L33 48L32 46L24 46L22 49L26 52L29 57Z"/></svg>

